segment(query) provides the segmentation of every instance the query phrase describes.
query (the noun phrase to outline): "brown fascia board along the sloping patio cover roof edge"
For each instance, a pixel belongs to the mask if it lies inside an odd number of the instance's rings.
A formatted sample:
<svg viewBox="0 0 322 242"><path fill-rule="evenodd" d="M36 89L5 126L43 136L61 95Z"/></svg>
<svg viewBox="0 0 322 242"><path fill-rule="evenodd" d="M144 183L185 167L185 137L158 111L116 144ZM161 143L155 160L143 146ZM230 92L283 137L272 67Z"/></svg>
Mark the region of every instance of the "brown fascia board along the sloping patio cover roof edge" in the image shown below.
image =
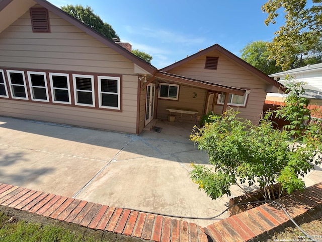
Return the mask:
<svg viewBox="0 0 322 242"><path fill-rule="evenodd" d="M215 84L215 83L211 83L211 82L206 83L201 80L188 79L186 77L182 77L182 76L178 76L178 75L173 76L170 73L168 75L167 73L157 72L155 74L155 77L158 77L161 79L166 79L166 80L171 80L171 81L175 81L175 82L183 83L183 84L187 84L187 85L193 85L195 87L204 88L204 89L211 90L211 91L227 92L227 93L232 93L235 95L244 95L246 92L246 90L244 90L244 89L223 86L223 85L219 85L219 84Z"/></svg>

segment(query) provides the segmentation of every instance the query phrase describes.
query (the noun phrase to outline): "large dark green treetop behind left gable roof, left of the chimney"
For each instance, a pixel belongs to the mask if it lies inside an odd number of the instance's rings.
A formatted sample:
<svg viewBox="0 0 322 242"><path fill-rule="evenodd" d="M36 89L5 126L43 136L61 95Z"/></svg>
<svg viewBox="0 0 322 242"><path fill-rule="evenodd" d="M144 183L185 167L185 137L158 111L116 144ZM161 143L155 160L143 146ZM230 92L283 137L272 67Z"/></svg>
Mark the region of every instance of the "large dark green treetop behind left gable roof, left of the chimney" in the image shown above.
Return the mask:
<svg viewBox="0 0 322 242"><path fill-rule="evenodd" d="M106 38L119 38L112 26L104 23L98 15L94 14L94 11L91 7L87 6L84 8L82 5L67 5L61 7L61 9L87 26L96 30L100 34L104 35Z"/></svg>

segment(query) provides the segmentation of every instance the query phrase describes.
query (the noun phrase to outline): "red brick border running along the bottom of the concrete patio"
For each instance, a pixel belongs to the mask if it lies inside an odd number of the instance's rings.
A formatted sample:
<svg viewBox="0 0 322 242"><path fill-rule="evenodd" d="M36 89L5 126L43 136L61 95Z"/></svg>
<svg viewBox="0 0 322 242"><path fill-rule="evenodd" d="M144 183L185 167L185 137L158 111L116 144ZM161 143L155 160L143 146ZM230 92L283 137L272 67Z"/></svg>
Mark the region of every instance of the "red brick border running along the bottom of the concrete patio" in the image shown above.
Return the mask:
<svg viewBox="0 0 322 242"><path fill-rule="evenodd" d="M322 183L276 200L293 219L320 216ZM268 203L233 215L205 228L195 223L128 209L109 207L84 200L43 193L18 186L0 184L0 209L13 209L34 216L51 218L91 230L157 242L251 241L290 225L281 208Z"/></svg>

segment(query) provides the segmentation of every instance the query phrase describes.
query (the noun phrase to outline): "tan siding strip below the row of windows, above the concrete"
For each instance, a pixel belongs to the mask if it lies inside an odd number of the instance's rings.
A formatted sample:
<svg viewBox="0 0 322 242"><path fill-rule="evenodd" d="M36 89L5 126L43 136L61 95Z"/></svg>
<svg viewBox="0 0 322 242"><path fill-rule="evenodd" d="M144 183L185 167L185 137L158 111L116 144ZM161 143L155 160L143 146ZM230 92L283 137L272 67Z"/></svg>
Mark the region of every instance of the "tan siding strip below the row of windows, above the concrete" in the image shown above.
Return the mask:
<svg viewBox="0 0 322 242"><path fill-rule="evenodd" d="M135 124L136 122L136 117L125 115L124 112L114 112L111 115L111 112L98 109L84 109L72 106L57 107L44 103L1 99L0 113L4 116L136 133L136 129L133 126L133 123Z"/></svg>

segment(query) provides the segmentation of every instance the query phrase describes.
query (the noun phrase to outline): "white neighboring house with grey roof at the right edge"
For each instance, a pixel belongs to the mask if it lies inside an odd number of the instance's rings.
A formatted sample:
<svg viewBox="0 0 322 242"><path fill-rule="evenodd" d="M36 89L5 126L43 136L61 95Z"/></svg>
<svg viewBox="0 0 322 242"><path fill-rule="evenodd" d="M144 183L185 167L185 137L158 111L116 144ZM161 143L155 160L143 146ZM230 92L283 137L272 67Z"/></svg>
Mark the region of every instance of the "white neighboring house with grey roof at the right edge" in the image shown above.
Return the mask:
<svg viewBox="0 0 322 242"><path fill-rule="evenodd" d="M269 76L283 85L290 81L303 82L305 89L303 96L309 100L309 104L322 105L322 63L307 65ZM266 97L266 103L278 104L278 102L283 102L286 96L287 94L284 93L269 93Z"/></svg>

